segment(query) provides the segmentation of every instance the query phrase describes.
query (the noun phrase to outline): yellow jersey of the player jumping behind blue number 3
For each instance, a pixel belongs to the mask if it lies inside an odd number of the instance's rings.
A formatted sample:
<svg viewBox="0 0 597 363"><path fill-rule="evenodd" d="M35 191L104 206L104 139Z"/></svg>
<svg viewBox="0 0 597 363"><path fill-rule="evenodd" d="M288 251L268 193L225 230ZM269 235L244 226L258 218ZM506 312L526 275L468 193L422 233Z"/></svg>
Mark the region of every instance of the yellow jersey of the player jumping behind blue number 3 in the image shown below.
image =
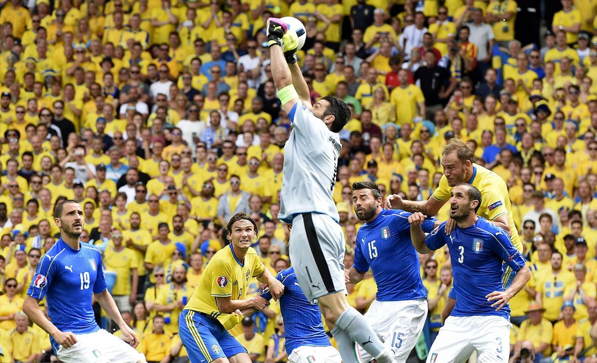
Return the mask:
<svg viewBox="0 0 597 363"><path fill-rule="evenodd" d="M508 187L504 179L489 169L473 163L473 176L467 181L481 192L481 207L477 214L488 221L493 221L502 215L508 216L510 224L510 239L517 250L522 252L522 242L512 216L512 202L508 194ZM439 186L433 191L433 198L439 201L450 199L453 187L448 185L445 175L439 179Z"/></svg>

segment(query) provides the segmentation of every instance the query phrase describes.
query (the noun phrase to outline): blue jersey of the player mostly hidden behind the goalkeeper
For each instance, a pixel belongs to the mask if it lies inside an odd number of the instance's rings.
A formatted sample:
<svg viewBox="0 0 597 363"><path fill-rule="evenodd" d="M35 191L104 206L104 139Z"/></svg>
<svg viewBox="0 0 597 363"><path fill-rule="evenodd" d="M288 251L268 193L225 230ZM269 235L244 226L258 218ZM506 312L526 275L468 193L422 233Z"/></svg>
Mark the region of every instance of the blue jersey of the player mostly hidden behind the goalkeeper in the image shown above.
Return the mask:
<svg viewBox="0 0 597 363"><path fill-rule="evenodd" d="M294 274L294 267L280 271L276 279L284 284L280 312L284 319L284 348L288 354L300 346L330 346L330 339L325 334L321 321L321 310L317 302L310 303L304 296ZM272 294L266 288L261 297L270 300Z"/></svg>

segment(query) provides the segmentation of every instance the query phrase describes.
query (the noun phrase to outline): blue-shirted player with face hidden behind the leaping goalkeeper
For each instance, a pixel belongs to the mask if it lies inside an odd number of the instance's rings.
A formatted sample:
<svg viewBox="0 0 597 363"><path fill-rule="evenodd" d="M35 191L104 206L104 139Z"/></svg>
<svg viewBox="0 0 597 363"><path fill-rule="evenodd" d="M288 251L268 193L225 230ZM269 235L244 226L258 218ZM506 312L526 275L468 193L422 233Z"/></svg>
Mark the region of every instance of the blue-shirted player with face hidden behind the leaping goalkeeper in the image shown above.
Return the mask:
<svg viewBox="0 0 597 363"><path fill-rule="evenodd" d="M310 303L298 284L294 267L282 270L276 279L284 285L284 295L280 297L280 312L284 319L285 343L291 363L340 363L342 358L330 344L321 321L321 310L317 302ZM261 293L269 301L272 294L269 288Z"/></svg>

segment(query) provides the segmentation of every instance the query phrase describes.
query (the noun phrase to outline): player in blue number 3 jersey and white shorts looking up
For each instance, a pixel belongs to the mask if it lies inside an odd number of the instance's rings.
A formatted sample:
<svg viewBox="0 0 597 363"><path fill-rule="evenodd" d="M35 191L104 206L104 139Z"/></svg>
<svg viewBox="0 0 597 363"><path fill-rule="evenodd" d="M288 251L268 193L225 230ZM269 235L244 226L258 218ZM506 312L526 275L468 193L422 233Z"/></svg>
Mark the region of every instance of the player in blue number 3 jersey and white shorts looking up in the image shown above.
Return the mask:
<svg viewBox="0 0 597 363"><path fill-rule="evenodd" d="M450 250L456 306L439 330L427 363L460 362L473 350L479 362L507 362L510 346L508 301L525 286L531 271L504 229L476 215L481 192L470 184L457 184L451 191L450 218L457 222L445 234L446 222L427 237L421 229L422 213L414 213L411 239L419 253ZM516 276L505 290L501 281L502 262Z"/></svg>

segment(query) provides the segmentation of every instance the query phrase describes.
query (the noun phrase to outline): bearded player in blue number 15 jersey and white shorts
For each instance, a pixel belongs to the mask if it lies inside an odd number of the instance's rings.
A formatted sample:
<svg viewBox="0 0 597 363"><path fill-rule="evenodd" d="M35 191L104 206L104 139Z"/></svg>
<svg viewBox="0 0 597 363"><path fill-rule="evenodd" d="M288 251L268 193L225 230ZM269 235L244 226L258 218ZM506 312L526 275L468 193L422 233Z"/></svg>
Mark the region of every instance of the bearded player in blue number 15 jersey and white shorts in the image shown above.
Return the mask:
<svg viewBox="0 0 597 363"><path fill-rule="evenodd" d="M427 293L421 281L418 255L410 240L411 215L404 210L384 210L377 184L352 184L352 206L365 224L356 235L355 262L346 269L346 283L363 280L371 268L377 297L365 317L397 362L405 362L417 343L427 318ZM439 224L439 222L438 222ZM423 230L435 224L427 219ZM361 361L373 359L361 346Z"/></svg>

